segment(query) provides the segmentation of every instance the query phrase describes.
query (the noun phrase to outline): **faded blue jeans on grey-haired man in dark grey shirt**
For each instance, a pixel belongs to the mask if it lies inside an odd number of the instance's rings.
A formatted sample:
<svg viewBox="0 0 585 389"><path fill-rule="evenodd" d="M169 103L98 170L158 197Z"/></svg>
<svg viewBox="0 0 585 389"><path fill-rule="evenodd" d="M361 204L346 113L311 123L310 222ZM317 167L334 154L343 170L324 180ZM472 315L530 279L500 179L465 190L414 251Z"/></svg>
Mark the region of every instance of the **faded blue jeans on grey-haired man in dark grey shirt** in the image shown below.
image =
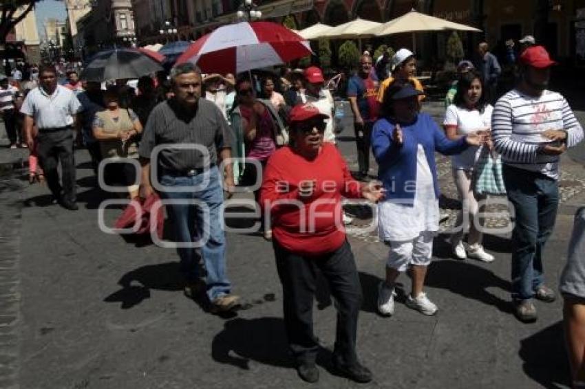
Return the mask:
<svg viewBox="0 0 585 389"><path fill-rule="evenodd" d="M178 248L181 270L187 280L200 278L199 263L203 259L207 273L207 296L210 301L229 294L231 283L226 276L226 237L222 229L222 204L224 194L220 185L217 166L209 169L209 184L189 192L173 192L172 186L198 186L204 181L204 174L193 177L162 175L160 184L168 186L162 192L164 199L201 201L209 207L209 213L196 204L167 204L175 230L175 241L197 242L202 236L209 236L201 248Z"/></svg>

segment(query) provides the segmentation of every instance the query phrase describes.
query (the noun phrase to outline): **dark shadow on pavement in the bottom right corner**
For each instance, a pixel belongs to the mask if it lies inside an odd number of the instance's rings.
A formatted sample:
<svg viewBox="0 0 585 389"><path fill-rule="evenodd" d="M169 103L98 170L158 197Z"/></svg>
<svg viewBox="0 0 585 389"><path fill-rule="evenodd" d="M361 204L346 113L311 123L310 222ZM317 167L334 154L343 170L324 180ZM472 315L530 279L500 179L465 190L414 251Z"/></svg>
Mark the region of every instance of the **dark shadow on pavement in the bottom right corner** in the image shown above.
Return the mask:
<svg viewBox="0 0 585 389"><path fill-rule="evenodd" d="M544 388L571 388L562 321L520 341L524 373Z"/></svg>

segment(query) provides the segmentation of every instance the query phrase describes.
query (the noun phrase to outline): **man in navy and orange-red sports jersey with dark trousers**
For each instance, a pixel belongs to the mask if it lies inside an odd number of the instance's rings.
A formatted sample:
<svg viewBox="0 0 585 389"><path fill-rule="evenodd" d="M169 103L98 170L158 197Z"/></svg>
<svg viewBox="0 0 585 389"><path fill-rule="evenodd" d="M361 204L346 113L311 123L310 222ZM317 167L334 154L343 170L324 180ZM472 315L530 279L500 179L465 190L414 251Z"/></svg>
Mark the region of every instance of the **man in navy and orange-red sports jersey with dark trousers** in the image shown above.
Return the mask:
<svg viewBox="0 0 585 389"><path fill-rule="evenodd" d="M378 119L378 81L372 79L372 57L363 55L360 67L348 82L348 99L354 113L354 131L357 145L359 173L363 180L370 172L370 140L374 122Z"/></svg>

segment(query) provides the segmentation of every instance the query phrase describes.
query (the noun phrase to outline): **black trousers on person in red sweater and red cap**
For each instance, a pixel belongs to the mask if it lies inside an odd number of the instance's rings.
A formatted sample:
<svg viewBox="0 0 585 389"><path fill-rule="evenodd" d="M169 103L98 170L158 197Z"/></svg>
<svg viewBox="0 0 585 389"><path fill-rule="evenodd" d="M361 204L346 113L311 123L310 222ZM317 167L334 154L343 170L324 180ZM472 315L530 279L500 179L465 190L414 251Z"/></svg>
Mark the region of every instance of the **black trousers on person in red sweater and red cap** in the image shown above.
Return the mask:
<svg viewBox="0 0 585 389"><path fill-rule="evenodd" d="M328 281L337 307L334 355L346 364L357 361L355 344L361 307L361 285L348 241L319 257L299 256L273 240L282 283L284 324L290 351L299 364L317 359L319 344L313 333L312 307L317 269Z"/></svg>

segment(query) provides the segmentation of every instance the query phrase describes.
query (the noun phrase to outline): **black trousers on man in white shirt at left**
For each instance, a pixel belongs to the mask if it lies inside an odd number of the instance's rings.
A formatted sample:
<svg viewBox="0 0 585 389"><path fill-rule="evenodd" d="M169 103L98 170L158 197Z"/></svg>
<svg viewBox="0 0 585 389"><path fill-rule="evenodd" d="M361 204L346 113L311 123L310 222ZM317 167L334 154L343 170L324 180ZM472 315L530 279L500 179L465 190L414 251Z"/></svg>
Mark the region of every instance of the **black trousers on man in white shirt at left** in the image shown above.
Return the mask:
<svg viewBox="0 0 585 389"><path fill-rule="evenodd" d="M54 132L39 131L37 135L39 147L39 163L45 173L47 186L54 197L61 197L63 190L63 199L66 201L75 201L75 161L74 161L74 131L72 129L63 129ZM61 161L61 173L63 175L63 187L59 183L59 173L57 170L59 161Z"/></svg>

